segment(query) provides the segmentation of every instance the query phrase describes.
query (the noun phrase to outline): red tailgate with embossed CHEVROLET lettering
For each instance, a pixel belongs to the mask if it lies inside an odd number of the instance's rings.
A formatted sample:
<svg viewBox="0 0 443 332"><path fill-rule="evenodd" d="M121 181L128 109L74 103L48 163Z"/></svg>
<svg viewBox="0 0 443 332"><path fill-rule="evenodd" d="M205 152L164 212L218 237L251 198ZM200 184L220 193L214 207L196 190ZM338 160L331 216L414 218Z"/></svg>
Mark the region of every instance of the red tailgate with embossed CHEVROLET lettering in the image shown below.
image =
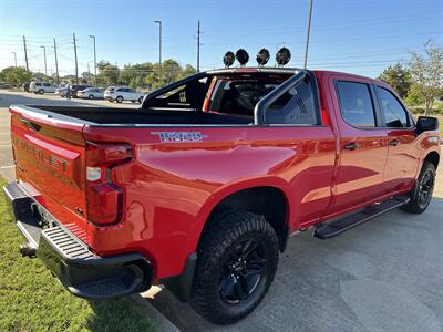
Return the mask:
<svg viewBox="0 0 443 332"><path fill-rule="evenodd" d="M83 125L55 121L30 107L11 106L10 113L17 178L56 219L86 240Z"/></svg>

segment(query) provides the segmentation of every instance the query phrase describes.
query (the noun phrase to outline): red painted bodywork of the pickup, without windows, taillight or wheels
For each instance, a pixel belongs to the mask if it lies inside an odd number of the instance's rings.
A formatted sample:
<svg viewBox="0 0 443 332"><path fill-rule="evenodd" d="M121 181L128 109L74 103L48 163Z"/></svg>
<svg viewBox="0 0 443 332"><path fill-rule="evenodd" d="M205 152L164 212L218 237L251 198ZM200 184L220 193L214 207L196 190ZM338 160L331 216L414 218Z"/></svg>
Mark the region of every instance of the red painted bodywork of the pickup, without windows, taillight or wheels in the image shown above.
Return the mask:
<svg viewBox="0 0 443 332"><path fill-rule="evenodd" d="M63 183L51 173L40 172L30 159L19 157L18 169L23 166L25 170L19 170L18 178L95 252L142 252L153 262L155 280L182 273L213 209L241 189L269 186L281 190L290 231L409 190L426 154L440 152L435 135L424 133L416 137L412 129L354 128L340 115L333 80L379 82L333 72L316 75L321 126L116 129L54 123L22 114L20 107L11 108L16 158L20 139L32 138L40 142L43 154L55 154L70 163L63 170L70 175L70 181ZM30 133L19 117L55 132L63 129L68 138L48 132ZM205 139L161 143L157 134L189 131L198 131ZM391 137L401 141L400 146L391 148ZM351 141L361 148L344 151L344 144ZM117 225L92 225L78 209L84 211L85 207L85 172L72 172L85 168L85 142L132 146L132 160L114 167L110 174L124 197L123 218ZM56 169L56 165L50 167Z"/></svg>

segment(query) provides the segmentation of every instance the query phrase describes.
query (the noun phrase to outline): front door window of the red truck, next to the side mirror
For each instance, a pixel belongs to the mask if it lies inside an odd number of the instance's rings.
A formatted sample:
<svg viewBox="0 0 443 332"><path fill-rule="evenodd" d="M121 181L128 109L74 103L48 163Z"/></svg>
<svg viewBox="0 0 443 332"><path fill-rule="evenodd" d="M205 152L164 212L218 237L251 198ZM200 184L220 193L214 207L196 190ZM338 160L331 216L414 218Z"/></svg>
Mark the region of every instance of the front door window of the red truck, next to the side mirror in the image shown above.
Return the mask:
<svg viewBox="0 0 443 332"><path fill-rule="evenodd" d="M409 116L398 98L390 91L380 86L377 86L377 92L379 94L381 112L384 115L387 127L409 127Z"/></svg>

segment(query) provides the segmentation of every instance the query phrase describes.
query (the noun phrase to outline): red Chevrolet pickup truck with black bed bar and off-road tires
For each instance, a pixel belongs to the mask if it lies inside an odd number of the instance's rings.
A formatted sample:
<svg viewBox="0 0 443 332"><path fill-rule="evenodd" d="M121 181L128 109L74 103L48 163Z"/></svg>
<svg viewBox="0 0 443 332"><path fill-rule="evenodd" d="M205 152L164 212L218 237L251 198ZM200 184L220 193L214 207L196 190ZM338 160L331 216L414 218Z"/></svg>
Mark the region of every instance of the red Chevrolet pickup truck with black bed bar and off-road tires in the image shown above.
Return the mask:
<svg viewBox="0 0 443 332"><path fill-rule="evenodd" d="M17 181L4 187L23 256L73 294L163 283L233 323L265 297L288 238L328 239L390 209L420 214L437 121L351 74L198 73L138 110L11 106Z"/></svg>

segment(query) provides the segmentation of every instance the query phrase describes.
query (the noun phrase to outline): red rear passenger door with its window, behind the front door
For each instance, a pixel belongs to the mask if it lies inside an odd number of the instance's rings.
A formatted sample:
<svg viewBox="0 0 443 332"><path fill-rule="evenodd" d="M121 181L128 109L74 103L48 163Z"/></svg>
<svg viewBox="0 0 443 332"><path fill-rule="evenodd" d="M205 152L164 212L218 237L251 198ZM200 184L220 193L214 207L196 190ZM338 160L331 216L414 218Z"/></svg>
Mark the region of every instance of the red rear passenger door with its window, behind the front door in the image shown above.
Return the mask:
<svg viewBox="0 0 443 332"><path fill-rule="evenodd" d="M387 131L379 127L377 100L369 80L333 79L340 137L340 163L336 179L333 211L364 205L385 194Z"/></svg>

